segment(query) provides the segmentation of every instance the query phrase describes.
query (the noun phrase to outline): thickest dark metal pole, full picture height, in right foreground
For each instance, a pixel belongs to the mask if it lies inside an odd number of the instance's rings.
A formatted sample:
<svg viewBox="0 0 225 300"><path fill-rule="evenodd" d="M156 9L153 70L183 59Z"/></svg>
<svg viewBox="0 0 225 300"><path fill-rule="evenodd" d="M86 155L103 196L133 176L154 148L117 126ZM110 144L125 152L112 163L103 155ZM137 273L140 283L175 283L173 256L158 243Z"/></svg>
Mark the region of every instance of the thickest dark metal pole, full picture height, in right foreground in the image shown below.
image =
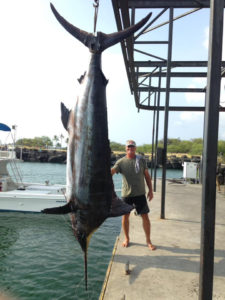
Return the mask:
<svg viewBox="0 0 225 300"><path fill-rule="evenodd" d="M210 1L209 59L204 120L199 299L211 300L216 208L216 163L223 35L223 0Z"/></svg>

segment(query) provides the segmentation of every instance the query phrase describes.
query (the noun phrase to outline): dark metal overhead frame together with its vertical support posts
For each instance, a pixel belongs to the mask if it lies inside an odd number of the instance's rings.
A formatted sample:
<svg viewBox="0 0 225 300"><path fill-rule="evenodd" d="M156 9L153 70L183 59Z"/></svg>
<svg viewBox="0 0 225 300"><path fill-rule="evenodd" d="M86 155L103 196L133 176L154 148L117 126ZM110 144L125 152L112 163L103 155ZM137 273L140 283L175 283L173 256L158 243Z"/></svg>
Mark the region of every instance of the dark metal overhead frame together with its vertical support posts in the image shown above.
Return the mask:
<svg viewBox="0 0 225 300"><path fill-rule="evenodd" d="M134 95L135 105L139 109L154 111L152 157L157 161L159 112L164 111L164 151L162 155L162 194L161 218L165 218L166 195L166 158L170 111L203 111L204 150L202 182L202 227L199 299L212 299L213 260L216 203L216 162L218 142L220 82L225 77L225 62L222 55L222 28L224 0L112 0L118 30L123 30L135 23L139 9L157 9L157 15L134 37L121 43L130 91ZM174 17L176 9L187 9ZM210 9L210 41L208 61L172 61L173 24L176 20L193 14L201 9ZM190 10L189 10L190 9ZM160 18L163 22L159 23ZM165 21L165 17L167 20ZM155 25L157 24L157 25ZM168 29L168 38L152 41L150 31L160 27ZM167 47L166 58L146 51L152 45ZM138 58L144 57L140 60ZM207 78L207 87L187 88L177 84L171 87L173 78ZM164 80L163 80L164 79ZM165 100L162 101L164 93ZM204 93L205 104L202 106L170 105L172 93ZM155 154L154 154L155 153ZM154 169L154 190L156 189L156 168ZM208 271L206 271L208 270Z"/></svg>

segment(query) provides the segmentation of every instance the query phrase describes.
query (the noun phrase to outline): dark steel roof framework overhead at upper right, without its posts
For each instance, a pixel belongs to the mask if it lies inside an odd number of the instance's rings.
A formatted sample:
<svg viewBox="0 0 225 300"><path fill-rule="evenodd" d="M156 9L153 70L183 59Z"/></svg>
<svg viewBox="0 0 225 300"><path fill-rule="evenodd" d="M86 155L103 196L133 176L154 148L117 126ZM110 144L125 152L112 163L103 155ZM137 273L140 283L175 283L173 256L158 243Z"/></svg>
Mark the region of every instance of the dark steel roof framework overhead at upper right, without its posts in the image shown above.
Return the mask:
<svg viewBox="0 0 225 300"><path fill-rule="evenodd" d="M140 9L157 11L141 32L121 43L130 90L134 95L135 105L138 109L164 110L163 104L159 104L158 108L156 107L156 99L160 97L158 94L161 93L162 103L166 88L168 88L171 94L170 98L173 97L172 93L205 94L206 87L204 85L200 88L187 87L185 79L206 78L207 61L188 61L185 57L181 61L171 60L169 49L172 51L174 36L173 28L171 33L169 33L169 30L170 27L173 27L175 21L197 13L201 9L209 8L210 1L112 0L112 4L118 30L133 25L135 23L135 16ZM168 13L169 8L173 8L174 12L176 10L180 12L181 9L186 9L186 11L178 13L176 17L170 17ZM169 26L170 23L171 26ZM156 31L160 27L168 31L166 34L167 38L164 38L164 34L163 38L159 36L157 40L152 40L152 35L149 33ZM156 45L157 48L155 47ZM158 52L162 53L162 55L157 54ZM222 62L221 76L223 77L225 77L224 68L225 62ZM174 82L173 87L168 86L165 78L168 78L168 81L172 84ZM184 79L183 83L180 79ZM170 111L204 111L205 108L204 103L201 106L187 106L180 100L178 105L169 105L168 109ZM220 111L225 111L225 108L221 106Z"/></svg>

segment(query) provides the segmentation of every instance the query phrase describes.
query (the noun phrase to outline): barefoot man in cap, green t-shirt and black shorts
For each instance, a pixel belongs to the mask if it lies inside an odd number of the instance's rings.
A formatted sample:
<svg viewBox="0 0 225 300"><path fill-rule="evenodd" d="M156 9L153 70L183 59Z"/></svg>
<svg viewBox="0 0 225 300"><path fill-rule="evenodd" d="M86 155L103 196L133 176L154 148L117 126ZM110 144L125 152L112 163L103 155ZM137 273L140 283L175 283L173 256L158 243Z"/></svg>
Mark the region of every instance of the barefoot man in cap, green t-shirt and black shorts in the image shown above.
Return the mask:
<svg viewBox="0 0 225 300"><path fill-rule="evenodd" d="M114 175L115 173L122 174L123 201L133 205L137 213L141 215L147 246L150 250L155 250L156 247L150 239L151 223L148 217L149 208L145 197L146 181L149 189L147 197L149 201L153 199L152 182L145 159L136 155L136 143L133 140L126 142L126 156L119 159L111 169L111 174ZM130 241L129 217L130 214L122 217L122 228L125 234L124 247L128 247Z"/></svg>

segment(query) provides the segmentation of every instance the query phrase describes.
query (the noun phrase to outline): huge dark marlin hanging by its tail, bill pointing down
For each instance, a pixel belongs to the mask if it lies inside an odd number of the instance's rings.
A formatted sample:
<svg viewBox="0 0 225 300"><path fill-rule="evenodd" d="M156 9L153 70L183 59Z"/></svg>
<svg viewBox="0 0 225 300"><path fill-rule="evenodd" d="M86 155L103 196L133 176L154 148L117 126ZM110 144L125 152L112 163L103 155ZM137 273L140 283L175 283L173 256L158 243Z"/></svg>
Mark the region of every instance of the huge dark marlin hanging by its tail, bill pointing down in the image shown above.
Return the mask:
<svg viewBox="0 0 225 300"><path fill-rule="evenodd" d="M69 111L61 103L62 122L69 133L67 204L43 211L71 213L72 229L84 252L87 289L87 248L92 233L106 218L121 216L132 210L131 206L117 198L110 172L106 107L108 81L101 69L101 54L106 48L131 36L148 21L151 14L124 31L93 35L68 23L52 4L51 9L60 24L91 52L88 71L79 80L82 91L74 109Z"/></svg>

